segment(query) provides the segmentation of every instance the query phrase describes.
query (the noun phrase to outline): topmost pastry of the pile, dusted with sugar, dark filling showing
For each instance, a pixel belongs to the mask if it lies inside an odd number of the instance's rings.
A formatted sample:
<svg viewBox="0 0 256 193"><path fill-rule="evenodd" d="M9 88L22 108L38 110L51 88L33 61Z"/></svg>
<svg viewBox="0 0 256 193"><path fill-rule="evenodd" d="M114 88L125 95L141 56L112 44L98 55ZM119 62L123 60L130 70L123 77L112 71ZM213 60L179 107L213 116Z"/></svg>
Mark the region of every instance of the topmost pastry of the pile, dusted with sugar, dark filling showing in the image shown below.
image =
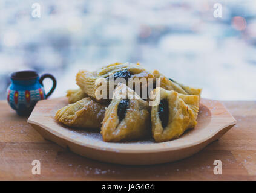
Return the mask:
<svg viewBox="0 0 256 193"><path fill-rule="evenodd" d="M153 77L153 74L146 71L139 63L114 63L94 72L79 71L76 75L76 83L88 96L102 101L113 98L112 94L116 87L114 83L122 82L130 87L139 83L139 90L136 92L140 92L140 89L148 86L148 78L153 79Z"/></svg>

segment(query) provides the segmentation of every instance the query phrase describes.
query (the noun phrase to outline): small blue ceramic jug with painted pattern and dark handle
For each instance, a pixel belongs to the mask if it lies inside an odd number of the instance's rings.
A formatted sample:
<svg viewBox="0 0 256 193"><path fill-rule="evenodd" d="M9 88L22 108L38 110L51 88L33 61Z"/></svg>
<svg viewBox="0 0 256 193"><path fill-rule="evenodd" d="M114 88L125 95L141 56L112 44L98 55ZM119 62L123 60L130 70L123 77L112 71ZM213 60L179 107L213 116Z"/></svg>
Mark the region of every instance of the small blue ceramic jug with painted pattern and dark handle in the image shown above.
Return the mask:
<svg viewBox="0 0 256 193"><path fill-rule="evenodd" d="M53 87L45 94L42 81L51 78ZM18 71L10 74L11 84L7 89L7 100L18 115L30 115L36 102L53 93L56 79L51 74L43 74L40 78L36 71Z"/></svg>

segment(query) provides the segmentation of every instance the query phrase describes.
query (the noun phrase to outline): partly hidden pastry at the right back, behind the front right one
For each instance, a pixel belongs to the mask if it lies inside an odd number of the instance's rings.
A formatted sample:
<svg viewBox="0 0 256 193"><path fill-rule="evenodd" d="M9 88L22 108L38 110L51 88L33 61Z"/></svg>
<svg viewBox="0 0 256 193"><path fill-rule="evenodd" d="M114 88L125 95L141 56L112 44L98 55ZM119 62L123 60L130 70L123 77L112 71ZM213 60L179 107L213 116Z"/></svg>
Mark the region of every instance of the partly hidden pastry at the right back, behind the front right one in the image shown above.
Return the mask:
<svg viewBox="0 0 256 193"><path fill-rule="evenodd" d="M155 78L160 78L160 87L165 90L175 90L176 92L185 95L197 95L200 98L202 89L184 86L183 84L177 83L177 81L174 81L171 78L166 78L157 70L153 71L153 75Z"/></svg>

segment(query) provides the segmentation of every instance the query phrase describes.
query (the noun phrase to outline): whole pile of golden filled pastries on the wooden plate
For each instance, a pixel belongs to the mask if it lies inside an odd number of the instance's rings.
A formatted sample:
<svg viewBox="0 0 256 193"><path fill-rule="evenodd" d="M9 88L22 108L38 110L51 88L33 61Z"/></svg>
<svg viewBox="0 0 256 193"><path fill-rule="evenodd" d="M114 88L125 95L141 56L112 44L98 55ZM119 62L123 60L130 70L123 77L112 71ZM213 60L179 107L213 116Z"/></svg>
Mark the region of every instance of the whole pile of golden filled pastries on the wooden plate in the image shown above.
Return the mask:
<svg viewBox="0 0 256 193"><path fill-rule="evenodd" d="M119 82L119 78L126 81ZM107 98L97 95L102 86L98 80L106 83ZM111 86L111 80L119 83ZM139 90L134 90L134 80L139 81ZM156 142L170 141L197 125L202 89L184 86L157 70L149 72L139 63L79 71L76 83L80 88L67 90L70 104L57 110L55 119L70 127L101 130L103 141L149 136ZM146 98L140 92L143 88L148 90Z"/></svg>

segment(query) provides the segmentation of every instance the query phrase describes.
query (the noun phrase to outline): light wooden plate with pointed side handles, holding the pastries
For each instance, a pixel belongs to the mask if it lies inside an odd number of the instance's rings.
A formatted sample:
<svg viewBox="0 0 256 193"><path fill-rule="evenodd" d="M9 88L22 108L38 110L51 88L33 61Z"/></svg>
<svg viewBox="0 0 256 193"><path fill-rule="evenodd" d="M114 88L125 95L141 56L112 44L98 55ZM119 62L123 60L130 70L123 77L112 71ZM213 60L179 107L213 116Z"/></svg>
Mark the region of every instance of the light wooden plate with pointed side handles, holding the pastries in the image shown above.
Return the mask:
<svg viewBox="0 0 256 193"><path fill-rule="evenodd" d="M103 142L99 132L76 130L56 122L55 112L67 104L65 97L39 101L28 118L28 123L45 139L68 147L74 153L103 162L125 165L165 163L191 156L220 138L236 123L220 102L202 99L197 126L186 131L179 139L161 143L152 139L110 143Z"/></svg>

